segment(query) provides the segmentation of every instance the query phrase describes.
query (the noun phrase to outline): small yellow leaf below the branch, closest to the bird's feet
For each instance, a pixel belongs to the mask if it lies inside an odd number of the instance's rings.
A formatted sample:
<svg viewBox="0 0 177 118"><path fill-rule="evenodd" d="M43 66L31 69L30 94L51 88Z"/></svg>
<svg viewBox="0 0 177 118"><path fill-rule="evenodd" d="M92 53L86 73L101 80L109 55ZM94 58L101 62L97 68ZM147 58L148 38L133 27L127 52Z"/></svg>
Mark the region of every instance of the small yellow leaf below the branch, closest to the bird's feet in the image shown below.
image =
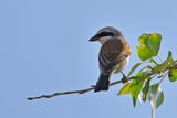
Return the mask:
<svg viewBox="0 0 177 118"><path fill-rule="evenodd" d="M124 86L118 92L118 95L126 95L131 93L131 83L125 83Z"/></svg>

